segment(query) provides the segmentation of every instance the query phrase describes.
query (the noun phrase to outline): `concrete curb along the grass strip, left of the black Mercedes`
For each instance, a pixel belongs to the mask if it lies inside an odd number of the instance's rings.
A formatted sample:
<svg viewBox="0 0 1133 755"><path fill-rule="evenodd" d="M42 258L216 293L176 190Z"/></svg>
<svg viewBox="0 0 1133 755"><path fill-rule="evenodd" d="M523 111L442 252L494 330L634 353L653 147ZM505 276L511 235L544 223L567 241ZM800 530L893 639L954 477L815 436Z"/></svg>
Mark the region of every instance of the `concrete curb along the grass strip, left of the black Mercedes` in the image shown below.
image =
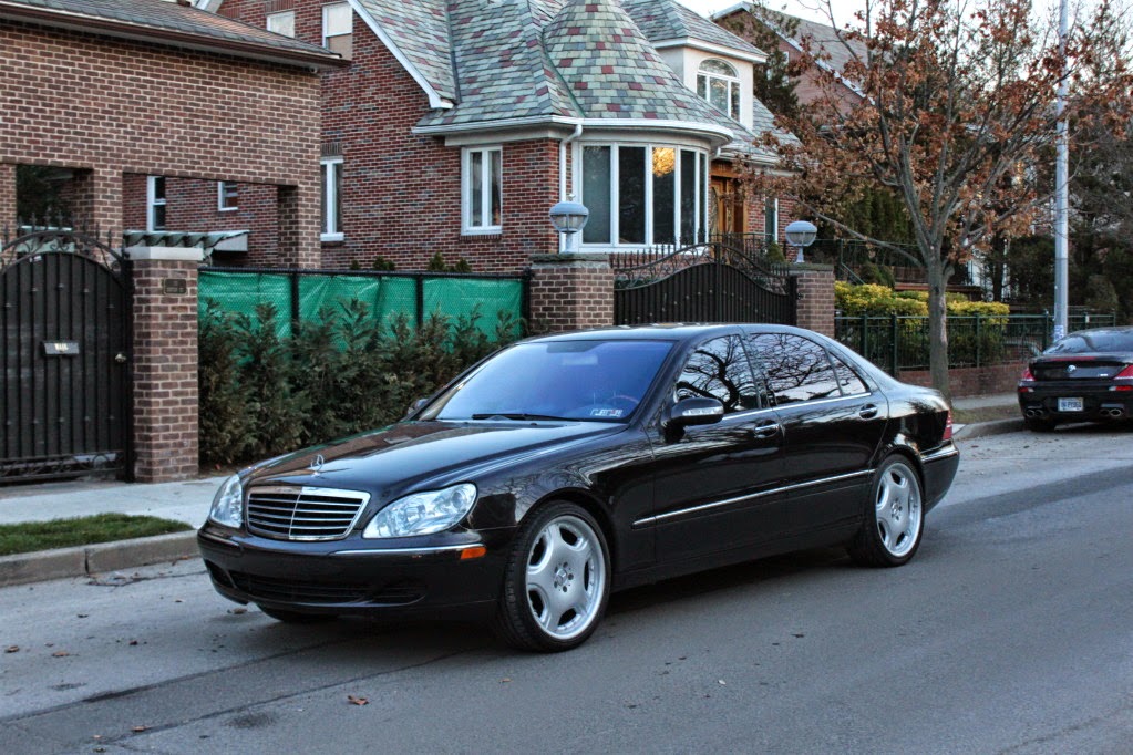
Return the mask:
<svg viewBox="0 0 1133 755"><path fill-rule="evenodd" d="M196 558L196 531L0 556L0 587Z"/></svg>

